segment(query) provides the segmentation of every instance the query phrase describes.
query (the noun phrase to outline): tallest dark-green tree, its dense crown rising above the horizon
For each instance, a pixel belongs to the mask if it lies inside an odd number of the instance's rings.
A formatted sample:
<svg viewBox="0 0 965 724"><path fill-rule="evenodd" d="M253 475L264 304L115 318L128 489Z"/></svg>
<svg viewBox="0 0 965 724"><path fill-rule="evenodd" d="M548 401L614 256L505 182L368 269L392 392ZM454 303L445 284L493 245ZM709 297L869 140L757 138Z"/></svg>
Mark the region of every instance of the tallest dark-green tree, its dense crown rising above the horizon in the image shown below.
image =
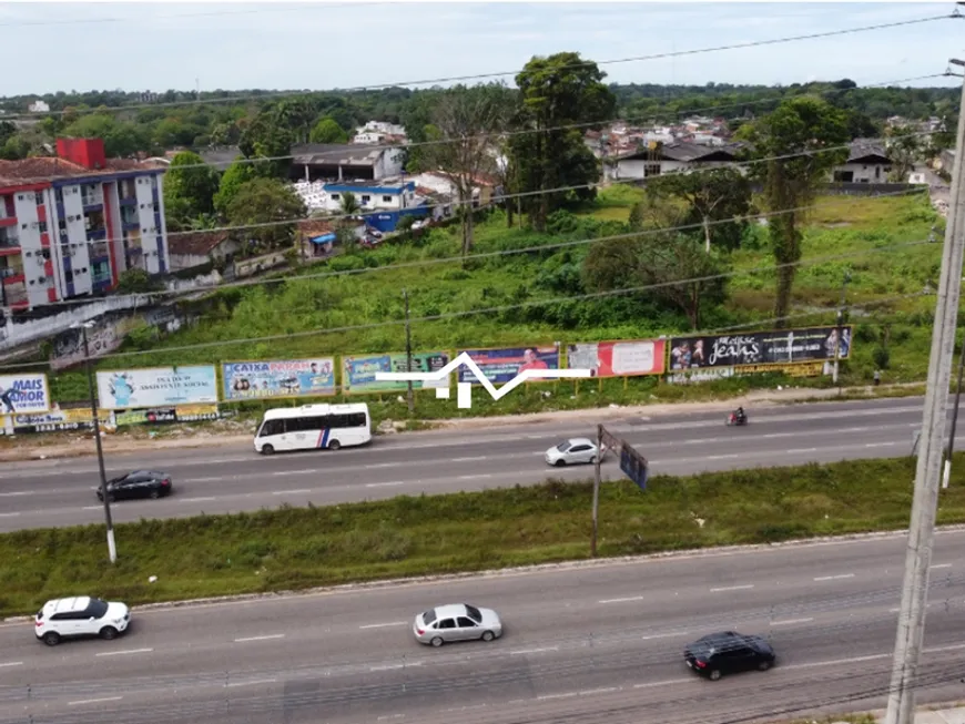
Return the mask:
<svg viewBox="0 0 965 724"><path fill-rule="evenodd" d="M595 188L548 190L599 181L599 163L583 142L583 133L588 124L602 123L616 113L617 99L602 82L605 78L595 62L572 52L534 58L516 77L522 100L519 123L532 131L512 139L522 190L547 192L527 198L537 230L546 228L550 211L567 198L592 198L596 193Z"/></svg>

